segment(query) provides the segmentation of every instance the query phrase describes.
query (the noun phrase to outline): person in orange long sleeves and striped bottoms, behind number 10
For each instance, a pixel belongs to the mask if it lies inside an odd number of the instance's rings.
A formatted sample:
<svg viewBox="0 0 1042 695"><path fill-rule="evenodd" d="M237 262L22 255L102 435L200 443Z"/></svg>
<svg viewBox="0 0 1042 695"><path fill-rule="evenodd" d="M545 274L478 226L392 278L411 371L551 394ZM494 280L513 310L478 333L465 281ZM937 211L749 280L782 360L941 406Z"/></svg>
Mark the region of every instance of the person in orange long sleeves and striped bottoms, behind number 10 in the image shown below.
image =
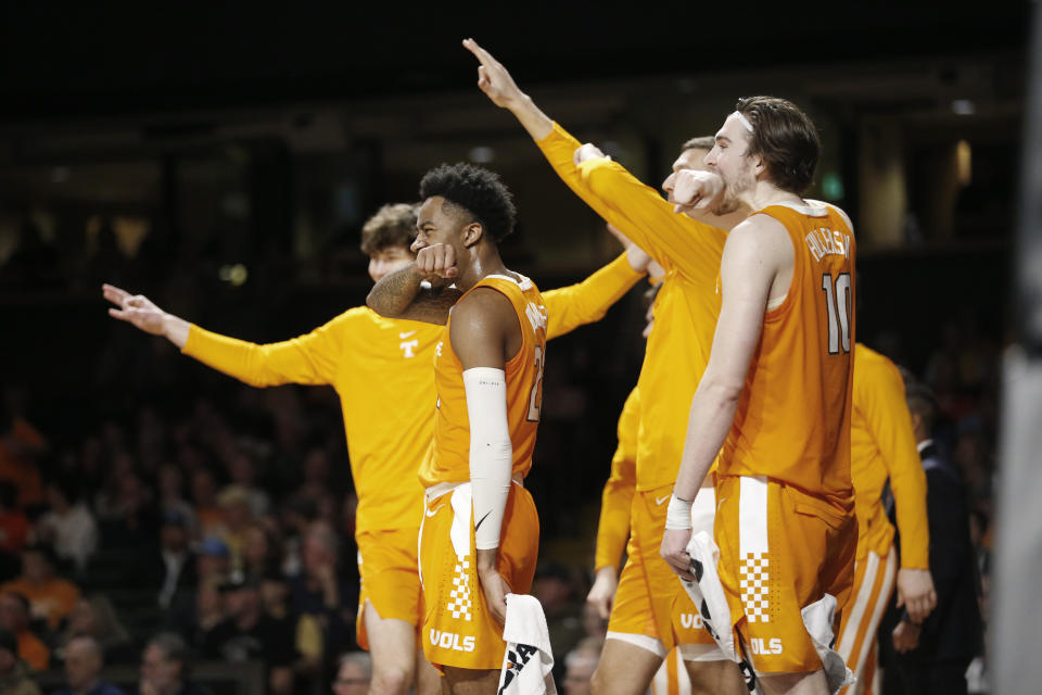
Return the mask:
<svg viewBox="0 0 1042 695"><path fill-rule="evenodd" d="M904 400L901 372L879 353L854 345L854 394L850 429L850 475L857 517L854 585L836 640L864 695L874 692L876 633L897 578L898 606L922 623L937 605L930 577L926 473ZM901 531L900 569L894 530L884 508L887 481ZM853 691L853 686L844 688Z"/></svg>

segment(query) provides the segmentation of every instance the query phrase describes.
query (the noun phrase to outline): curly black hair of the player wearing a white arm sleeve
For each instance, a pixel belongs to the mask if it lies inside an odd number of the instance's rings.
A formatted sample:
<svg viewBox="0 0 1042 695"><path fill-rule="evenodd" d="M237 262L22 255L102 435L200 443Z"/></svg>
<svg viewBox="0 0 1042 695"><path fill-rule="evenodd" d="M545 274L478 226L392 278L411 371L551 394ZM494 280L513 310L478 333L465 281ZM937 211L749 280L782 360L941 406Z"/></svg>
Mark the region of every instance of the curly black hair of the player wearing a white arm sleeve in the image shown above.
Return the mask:
<svg viewBox="0 0 1042 695"><path fill-rule="evenodd" d="M434 195L467 211L496 242L513 231L513 195L498 174L466 162L441 164L420 181L420 199Z"/></svg>

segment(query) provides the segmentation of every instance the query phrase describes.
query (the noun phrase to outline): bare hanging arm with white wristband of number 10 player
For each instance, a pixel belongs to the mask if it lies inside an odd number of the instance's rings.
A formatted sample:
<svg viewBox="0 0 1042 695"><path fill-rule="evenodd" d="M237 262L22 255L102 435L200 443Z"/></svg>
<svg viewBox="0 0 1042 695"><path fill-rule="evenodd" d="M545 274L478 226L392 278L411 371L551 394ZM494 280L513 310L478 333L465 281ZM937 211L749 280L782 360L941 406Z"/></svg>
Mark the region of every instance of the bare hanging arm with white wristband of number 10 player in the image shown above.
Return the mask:
<svg viewBox="0 0 1042 695"><path fill-rule="evenodd" d="M709 365L691 400L687 440L670 500L660 553L674 572L687 579L692 579L687 555L691 503L734 422L776 273L772 250L758 238L761 225L760 218L739 225L724 247L720 320Z"/></svg>

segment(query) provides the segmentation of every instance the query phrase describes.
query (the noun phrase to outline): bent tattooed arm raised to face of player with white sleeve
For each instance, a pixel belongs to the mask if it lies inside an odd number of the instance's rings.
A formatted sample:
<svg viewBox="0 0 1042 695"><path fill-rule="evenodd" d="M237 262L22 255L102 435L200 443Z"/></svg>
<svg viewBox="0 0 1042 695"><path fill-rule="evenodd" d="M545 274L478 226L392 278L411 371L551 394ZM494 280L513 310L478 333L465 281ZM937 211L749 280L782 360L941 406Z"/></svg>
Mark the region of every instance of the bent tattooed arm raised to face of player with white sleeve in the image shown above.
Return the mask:
<svg viewBox="0 0 1042 695"><path fill-rule="evenodd" d="M448 287L458 274L454 249L433 244L420 249L416 261L377 282L366 304L381 316L444 326L461 294Z"/></svg>

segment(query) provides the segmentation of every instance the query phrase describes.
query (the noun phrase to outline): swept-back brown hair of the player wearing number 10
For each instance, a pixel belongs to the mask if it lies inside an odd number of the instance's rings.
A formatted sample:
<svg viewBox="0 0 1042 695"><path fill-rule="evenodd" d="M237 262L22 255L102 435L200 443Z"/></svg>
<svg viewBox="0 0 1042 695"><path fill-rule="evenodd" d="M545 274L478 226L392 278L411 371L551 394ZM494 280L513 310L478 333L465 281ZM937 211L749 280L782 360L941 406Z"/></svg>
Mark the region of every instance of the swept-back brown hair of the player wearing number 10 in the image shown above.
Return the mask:
<svg viewBox="0 0 1042 695"><path fill-rule="evenodd" d="M735 111L752 124L749 154L763 155L775 186L802 195L814 181L822 151L814 123L791 101L777 97L739 99Z"/></svg>

